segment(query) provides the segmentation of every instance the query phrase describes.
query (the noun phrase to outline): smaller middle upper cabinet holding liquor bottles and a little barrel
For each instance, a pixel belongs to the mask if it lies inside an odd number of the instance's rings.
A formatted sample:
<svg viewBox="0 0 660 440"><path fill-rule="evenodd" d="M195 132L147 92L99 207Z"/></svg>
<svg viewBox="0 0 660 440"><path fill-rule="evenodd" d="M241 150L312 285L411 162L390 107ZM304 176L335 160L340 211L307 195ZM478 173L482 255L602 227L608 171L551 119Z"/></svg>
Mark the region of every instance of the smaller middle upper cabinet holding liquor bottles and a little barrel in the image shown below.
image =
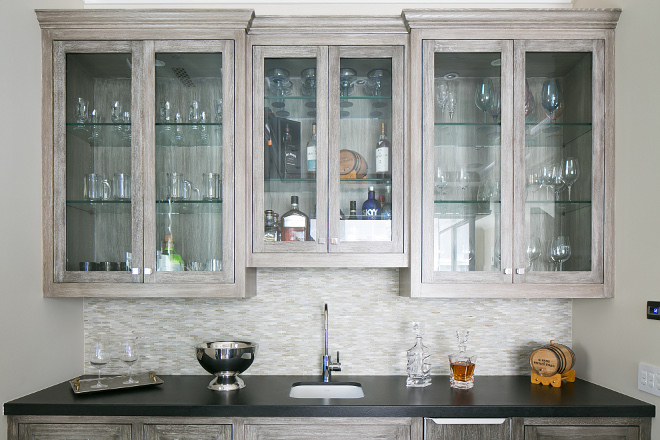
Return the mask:
<svg viewBox="0 0 660 440"><path fill-rule="evenodd" d="M249 47L250 264L406 266L401 19L257 18Z"/></svg>

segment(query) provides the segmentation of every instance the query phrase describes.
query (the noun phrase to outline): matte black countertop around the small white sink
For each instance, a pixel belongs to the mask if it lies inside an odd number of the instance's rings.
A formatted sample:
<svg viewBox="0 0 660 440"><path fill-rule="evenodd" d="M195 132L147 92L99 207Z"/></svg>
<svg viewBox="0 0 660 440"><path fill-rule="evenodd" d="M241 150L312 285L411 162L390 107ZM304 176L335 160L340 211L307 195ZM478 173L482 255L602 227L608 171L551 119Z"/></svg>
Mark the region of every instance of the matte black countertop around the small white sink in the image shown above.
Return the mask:
<svg viewBox="0 0 660 440"><path fill-rule="evenodd" d="M561 388L529 376L478 376L454 390L447 376L406 388L402 376L335 375L362 384L361 399L294 399L294 382L312 376L242 376L245 388L206 388L212 376L159 376L162 385L76 395L64 382L5 403L5 415L180 417L654 417L655 406L577 379Z"/></svg>

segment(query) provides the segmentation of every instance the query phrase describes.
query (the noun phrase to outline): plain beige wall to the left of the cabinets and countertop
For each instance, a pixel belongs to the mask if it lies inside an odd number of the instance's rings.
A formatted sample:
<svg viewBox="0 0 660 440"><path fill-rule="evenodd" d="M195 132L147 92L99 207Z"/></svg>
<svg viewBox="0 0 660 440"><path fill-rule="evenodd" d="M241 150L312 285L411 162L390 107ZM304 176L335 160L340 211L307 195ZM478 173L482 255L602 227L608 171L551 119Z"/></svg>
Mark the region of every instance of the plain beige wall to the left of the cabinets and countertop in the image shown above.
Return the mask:
<svg viewBox="0 0 660 440"><path fill-rule="evenodd" d="M35 8L81 1L5 0L0 13L0 403L83 370L82 300L41 296L41 39ZM6 436L0 418L0 439Z"/></svg>

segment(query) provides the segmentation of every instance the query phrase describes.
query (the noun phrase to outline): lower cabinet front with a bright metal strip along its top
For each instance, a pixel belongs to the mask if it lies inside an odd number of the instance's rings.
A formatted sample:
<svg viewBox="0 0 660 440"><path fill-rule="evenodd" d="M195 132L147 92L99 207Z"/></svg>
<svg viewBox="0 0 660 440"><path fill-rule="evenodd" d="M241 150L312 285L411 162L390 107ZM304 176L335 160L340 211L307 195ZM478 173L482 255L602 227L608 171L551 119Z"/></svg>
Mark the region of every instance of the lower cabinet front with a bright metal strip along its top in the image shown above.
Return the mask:
<svg viewBox="0 0 660 440"><path fill-rule="evenodd" d="M508 440L508 419L424 419L425 440Z"/></svg>

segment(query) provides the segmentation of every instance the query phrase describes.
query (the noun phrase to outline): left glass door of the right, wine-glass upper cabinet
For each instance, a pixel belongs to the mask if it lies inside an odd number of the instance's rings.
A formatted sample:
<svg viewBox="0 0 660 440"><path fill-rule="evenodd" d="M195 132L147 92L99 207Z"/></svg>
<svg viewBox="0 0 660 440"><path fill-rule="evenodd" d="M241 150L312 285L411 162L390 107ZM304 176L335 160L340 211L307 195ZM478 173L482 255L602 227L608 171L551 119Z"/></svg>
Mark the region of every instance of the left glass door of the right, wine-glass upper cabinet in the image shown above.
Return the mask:
<svg viewBox="0 0 660 440"><path fill-rule="evenodd" d="M423 47L422 279L511 282L513 44Z"/></svg>

